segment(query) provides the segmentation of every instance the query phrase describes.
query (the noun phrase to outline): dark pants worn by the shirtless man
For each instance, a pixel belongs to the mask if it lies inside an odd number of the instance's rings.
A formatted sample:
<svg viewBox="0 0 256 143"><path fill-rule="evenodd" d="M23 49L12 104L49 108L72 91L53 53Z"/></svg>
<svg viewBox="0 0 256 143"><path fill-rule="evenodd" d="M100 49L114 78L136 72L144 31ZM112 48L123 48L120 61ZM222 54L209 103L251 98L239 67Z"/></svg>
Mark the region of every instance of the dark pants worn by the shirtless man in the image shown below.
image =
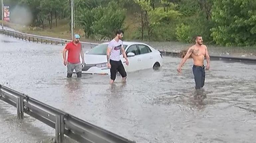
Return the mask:
<svg viewBox="0 0 256 143"><path fill-rule="evenodd" d="M204 66L193 65L193 74L195 80L195 89L200 89L204 86L205 71Z"/></svg>

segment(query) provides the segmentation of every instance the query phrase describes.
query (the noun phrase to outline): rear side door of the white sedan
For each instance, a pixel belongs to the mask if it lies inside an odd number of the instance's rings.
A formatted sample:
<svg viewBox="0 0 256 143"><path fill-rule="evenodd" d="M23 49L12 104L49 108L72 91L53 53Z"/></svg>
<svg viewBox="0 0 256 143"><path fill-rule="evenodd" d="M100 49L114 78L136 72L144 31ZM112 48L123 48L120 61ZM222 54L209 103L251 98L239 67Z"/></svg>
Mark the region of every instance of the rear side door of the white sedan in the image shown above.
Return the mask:
<svg viewBox="0 0 256 143"><path fill-rule="evenodd" d="M153 55L151 49L147 45L138 44L137 45L140 52L141 67L143 69L152 68Z"/></svg>

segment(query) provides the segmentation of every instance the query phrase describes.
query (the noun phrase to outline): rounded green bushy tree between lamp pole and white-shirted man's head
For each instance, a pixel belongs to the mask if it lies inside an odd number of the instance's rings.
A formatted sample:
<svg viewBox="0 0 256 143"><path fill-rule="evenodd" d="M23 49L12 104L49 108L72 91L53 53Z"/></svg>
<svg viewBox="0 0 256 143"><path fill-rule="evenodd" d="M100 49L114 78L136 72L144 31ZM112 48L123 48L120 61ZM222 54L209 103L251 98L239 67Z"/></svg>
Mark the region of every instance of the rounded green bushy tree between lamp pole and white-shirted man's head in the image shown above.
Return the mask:
<svg viewBox="0 0 256 143"><path fill-rule="evenodd" d="M125 14L125 9L121 9L115 2L109 2L105 7L80 9L77 18L87 38L94 35L100 37L100 40L105 38L110 40L116 29L123 28Z"/></svg>

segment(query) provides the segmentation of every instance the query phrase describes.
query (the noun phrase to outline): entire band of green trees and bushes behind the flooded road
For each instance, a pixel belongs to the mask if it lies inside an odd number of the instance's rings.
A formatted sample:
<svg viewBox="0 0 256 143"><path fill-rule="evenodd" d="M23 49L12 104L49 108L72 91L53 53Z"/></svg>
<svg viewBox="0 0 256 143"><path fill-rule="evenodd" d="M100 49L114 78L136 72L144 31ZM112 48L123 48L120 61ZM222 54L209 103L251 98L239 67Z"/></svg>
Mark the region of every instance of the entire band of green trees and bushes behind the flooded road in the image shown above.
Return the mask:
<svg viewBox="0 0 256 143"><path fill-rule="evenodd" d="M28 8L33 14L33 26L44 28L49 22L52 28L53 20L57 23L58 18L70 19L70 0L4 3L10 6L11 20L16 5ZM202 35L205 43L256 45L255 0L75 0L75 21L87 38L111 39L116 29L125 29L127 15L129 19L134 16L131 27L136 30L129 37L135 39L191 43L195 35Z"/></svg>

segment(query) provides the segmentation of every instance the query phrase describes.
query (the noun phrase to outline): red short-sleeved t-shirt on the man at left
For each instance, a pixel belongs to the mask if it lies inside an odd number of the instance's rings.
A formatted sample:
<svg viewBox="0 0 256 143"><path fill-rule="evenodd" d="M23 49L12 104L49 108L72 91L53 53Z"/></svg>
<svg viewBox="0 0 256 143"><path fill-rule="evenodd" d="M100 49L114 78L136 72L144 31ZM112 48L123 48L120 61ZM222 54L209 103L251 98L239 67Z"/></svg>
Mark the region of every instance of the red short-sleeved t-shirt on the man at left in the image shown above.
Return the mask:
<svg viewBox="0 0 256 143"><path fill-rule="evenodd" d="M75 45L73 41L69 42L67 43L65 49L68 50L67 62L70 62L70 63L80 62L81 43L77 43L77 45Z"/></svg>

